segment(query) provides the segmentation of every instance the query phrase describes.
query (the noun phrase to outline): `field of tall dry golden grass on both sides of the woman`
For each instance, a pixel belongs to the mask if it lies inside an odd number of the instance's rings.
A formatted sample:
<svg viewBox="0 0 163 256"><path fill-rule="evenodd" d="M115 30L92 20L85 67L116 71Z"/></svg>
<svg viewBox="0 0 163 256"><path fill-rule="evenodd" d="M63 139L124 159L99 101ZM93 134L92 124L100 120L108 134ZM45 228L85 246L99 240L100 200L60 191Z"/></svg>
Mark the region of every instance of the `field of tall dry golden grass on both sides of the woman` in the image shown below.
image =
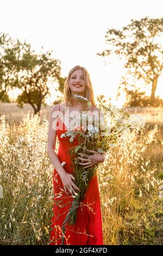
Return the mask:
<svg viewBox="0 0 163 256"><path fill-rule="evenodd" d="M49 107L40 117L0 105L0 244L47 245L53 166L47 155ZM29 112L28 112L29 111ZM163 244L163 109L128 108L146 121L100 165L104 245ZM58 150L58 142L57 148ZM163 195L163 193L162 193Z"/></svg>

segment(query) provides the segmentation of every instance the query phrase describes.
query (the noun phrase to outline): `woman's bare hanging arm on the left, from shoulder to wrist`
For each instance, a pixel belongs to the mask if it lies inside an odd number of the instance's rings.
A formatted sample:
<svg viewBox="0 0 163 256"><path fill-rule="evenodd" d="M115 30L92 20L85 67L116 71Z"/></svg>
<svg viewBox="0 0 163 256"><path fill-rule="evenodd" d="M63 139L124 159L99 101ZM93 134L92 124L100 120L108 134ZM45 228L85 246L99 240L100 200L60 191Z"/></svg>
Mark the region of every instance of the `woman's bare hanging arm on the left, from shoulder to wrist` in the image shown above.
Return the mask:
<svg viewBox="0 0 163 256"><path fill-rule="evenodd" d="M58 174L62 176L62 174L65 174L66 171L64 167L61 166L57 153L55 153L55 145L56 145L56 139L57 139L57 120L58 120L57 112L59 113L59 105L53 106L49 114L47 152L48 152L48 157L51 160L54 168L57 170Z"/></svg>

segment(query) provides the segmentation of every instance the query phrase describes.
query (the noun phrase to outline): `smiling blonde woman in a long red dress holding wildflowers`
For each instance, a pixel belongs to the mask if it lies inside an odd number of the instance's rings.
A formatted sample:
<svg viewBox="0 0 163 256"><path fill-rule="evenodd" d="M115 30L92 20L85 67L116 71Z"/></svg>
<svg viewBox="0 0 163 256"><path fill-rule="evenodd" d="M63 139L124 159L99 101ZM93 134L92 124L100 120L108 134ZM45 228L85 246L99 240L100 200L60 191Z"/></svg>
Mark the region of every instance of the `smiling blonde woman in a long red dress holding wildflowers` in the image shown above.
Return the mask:
<svg viewBox="0 0 163 256"><path fill-rule="evenodd" d="M91 111L87 109L87 102L79 102L74 95L86 97L91 101ZM65 102L52 107L49 114L48 142L47 150L49 159L54 166L53 189L54 206L51 227L51 237L49 245L61 245L62 223L73 202L73 195L79 191L74 181L73 168L68 150L72 145L78 145L75 138L73 143L68 137L61 134L67 129L73 129L72 121L74 112L75 117L79 117L82 111L87 110L90 115L99 113L96 107L92 84L89 73L82 66L75 66L70 70L64 88ZM67 114L68 111L68 114ZM73 113L73 115L72 115ZM56 138L59 139L58 154L55 153ZM79 155L80 164L85 168L93 164L101 163L105 156L97 151L89 150L92 156ZM82 199L77 209L76 224L65 225L64 245L103 245L101 203L99 198L97 176L93 177L87 188L85 197Z"/></svg>

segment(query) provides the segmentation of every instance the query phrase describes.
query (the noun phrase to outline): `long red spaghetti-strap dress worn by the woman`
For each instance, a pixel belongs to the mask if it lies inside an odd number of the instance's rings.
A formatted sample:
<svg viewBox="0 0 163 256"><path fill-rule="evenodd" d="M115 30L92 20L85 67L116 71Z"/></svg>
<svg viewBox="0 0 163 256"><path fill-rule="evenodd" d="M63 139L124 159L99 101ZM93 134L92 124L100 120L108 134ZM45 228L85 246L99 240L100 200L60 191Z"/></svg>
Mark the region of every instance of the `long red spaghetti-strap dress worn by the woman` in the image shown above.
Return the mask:
<svg viewBox="0 0 163 256"><path fill-rule="evenodd" d="M58 157L61 163L66 162L64 165L66 172L72 174L73 169L68 149L72 145L78 145L79 143L77 138L74 138L73 142L70 142L70 137L61 138L61 134L67 131L66 125L62 123L60 118L57 124L59 125L57 125ZM61 245L62 224L71 207L73 198L70 192L68 196L66 195L60 176L55 168L53 190L54 204L49 245ZM78 193L77 190L75 191ZM82 204L77 208L76 224L70 227L67 224L65 225L65 237L64 245L103 245L101 202L97 175L90 180L85 197L82 199Z"/></svg>

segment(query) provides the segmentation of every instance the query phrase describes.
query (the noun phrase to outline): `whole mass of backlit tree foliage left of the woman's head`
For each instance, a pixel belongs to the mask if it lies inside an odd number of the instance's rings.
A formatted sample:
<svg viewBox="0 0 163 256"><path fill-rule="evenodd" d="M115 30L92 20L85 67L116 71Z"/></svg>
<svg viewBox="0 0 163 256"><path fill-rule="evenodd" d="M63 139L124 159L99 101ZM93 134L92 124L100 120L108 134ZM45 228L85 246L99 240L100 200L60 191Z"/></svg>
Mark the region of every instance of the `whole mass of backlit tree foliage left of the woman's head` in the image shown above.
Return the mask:
<svg viewBox="0 0 163 256"><path fill-rule="evenodd" d="M1 33L0 56L0 100L9 89L22 89L17 98L18 106L29 103L36 114L42 103L46 105L52 84L57 82L59 90L63 91L66 78L61 77L60 60L52 57L52 51L36 54L26 41L22 43Z"/></svg>

